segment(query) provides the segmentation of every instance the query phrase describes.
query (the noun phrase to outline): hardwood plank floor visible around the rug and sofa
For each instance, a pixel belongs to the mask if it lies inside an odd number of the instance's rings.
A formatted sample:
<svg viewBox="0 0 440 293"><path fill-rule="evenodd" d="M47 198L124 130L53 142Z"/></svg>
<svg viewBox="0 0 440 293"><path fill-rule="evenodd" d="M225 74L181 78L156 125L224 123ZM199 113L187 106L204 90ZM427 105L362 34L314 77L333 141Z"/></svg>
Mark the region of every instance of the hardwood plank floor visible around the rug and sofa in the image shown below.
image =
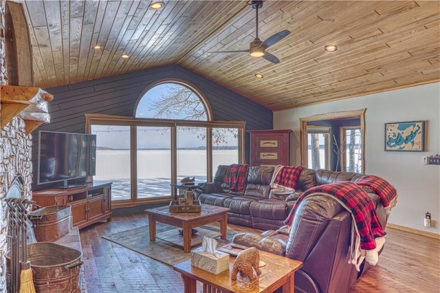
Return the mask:
<svg viewBox="0 0 440 293"><path fill-rule="evenodd" d="M80 230L87 292L183 292L173 268L102 238L148 224L144 213L117 215ZM254 230L228 225L236 232ZM254 230L258 231L258 230ZM355 292L440 292L440 240L386 229L379 263L356 283Z"/></svg>

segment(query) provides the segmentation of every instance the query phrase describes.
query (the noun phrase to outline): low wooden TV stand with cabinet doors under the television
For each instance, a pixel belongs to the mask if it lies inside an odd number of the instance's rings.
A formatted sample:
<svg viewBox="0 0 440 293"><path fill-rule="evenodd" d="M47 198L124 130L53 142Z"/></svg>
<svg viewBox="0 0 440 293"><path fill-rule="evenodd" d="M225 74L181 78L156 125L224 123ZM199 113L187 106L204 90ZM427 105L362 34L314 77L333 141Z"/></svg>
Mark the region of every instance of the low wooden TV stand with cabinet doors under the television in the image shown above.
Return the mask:
<svg viewBox="0 0 440 293"><path fill-rule="evenodd" d="M111 219L111 182L93 182L75 188L34 191L32 199L40 206L71 206L72 223L79 229L104 219Z"/></svg>

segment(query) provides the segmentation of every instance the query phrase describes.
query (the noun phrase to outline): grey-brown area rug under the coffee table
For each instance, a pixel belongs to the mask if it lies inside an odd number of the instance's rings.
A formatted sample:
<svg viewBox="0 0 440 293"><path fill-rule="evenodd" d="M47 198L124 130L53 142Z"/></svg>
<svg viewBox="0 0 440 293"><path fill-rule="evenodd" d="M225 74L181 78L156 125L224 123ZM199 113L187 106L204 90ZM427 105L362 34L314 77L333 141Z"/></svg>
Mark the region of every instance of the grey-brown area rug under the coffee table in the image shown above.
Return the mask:
<svg viewBox="0 0 440 293"><path fill-rule="evenodd" d="M219 228L212 226L202 226L200 228L219 231ZM167 230L171 229L175 229L175 227L157 223L156 235L160 232L166 232ZM230 243L234 234L234 232L227 232L227 241L220 239L220 237L216 238L217 242L219 243L218 247ZM182 261L186 261L191 257L190 253L184 253L184 249L182 247L176 246L173 243L169 243L167 241L163 241L157 238L155 242L150 242L148 226L142 226L131 230L116 232L111 235L102 236L102 238L171 266L176 265L177 263L181 263ZM200 246L201 245L192 246L191 249L195 249Z"/></svg>

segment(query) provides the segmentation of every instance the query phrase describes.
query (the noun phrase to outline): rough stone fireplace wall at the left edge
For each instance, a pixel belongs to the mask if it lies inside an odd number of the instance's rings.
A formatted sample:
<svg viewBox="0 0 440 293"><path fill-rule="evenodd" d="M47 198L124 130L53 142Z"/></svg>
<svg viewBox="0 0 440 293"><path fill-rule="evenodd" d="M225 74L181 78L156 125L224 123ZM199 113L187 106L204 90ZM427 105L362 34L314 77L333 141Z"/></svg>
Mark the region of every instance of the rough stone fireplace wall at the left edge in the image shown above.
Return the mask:
<svg viewBox="0 0 440 293"><path fill-rule="evenodd" d="M0 0L0 84L8 85L5 66L5 0ZM1 116L1 113L0 113ZM0 292L6 292L5 253L7 223L5 195L16 175L24 179L23 195L32 197L32 136L25 134L25 122L14 118L0 129Z"/></svg>

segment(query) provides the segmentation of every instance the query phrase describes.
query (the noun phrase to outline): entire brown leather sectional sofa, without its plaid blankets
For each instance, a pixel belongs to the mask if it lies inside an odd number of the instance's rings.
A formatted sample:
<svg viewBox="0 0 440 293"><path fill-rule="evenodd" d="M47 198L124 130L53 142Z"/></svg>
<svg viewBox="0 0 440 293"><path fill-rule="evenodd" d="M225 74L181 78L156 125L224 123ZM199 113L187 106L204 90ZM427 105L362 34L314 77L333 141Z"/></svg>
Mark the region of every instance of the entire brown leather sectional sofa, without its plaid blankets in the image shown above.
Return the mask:
<svg viewBox="0 0 440 293"><path fill-rule="evenodd" d="M358 272L355 265L349 263L352 218L336 199L323 195L306 197L296 210L292 226L283 226L300 193L312 186L353 182L359 174L304 169L296 193L274 195L269 186L273 169L250 167L243 195L233 195L222 182L225 167L219 166L214 182L201 185L204 191L198 193L198 199L204 204L231 208L230 223L266 230L239 233L234 236L234 243L303 261L303 267L295 274L296 292L347 292L369 267L363 263ZM385 228L388 215L380 197L372 192L368 194Z"/></svg>

